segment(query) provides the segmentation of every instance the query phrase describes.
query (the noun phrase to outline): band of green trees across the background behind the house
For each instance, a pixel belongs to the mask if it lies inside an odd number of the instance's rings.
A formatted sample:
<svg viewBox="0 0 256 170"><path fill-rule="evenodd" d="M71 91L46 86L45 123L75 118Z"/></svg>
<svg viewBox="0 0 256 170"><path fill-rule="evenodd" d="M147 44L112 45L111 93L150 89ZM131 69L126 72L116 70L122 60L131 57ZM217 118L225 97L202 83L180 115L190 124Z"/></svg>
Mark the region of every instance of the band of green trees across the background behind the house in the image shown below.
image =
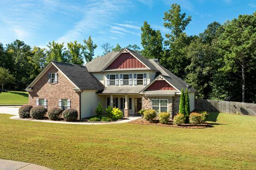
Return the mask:
<svg viewBox="0 0 256 170"><path fill-rule="evenodd" d="M169 30L164 37L145 21L142 49L137 45L127 48L149 59L158 58L162 66L192 84L198 98L256 102L256 13L239 15L224 24L213 22L192 36L185 32L192 17L182 13L180 5L172 4L163 20ZM109 43L100 47L102 55L122 49ZM0 43L0 67L10 75L8 88L22 90L50 61L82 65L95 57L96 48L91 36L83 44L67 43L66 48L54 41L46 49L31 48L20 40L5 48Z"/></svg>

